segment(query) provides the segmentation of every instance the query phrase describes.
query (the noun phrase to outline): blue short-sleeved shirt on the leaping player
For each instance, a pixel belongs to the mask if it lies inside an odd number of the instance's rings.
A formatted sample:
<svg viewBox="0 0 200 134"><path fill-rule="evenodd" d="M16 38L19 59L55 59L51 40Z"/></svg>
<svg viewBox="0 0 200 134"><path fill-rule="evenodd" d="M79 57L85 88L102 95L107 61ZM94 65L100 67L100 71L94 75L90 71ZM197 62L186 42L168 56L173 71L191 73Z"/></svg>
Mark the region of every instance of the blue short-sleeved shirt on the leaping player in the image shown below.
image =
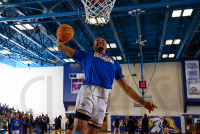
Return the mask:
<svg viewBox="0 0 200 134"><path fill-rule="evenodd" d="M119 63L107 54L75 50L72 58L84 68L83 85L97 85L112 89L114 78L118 80L124 77Z"/></svg>

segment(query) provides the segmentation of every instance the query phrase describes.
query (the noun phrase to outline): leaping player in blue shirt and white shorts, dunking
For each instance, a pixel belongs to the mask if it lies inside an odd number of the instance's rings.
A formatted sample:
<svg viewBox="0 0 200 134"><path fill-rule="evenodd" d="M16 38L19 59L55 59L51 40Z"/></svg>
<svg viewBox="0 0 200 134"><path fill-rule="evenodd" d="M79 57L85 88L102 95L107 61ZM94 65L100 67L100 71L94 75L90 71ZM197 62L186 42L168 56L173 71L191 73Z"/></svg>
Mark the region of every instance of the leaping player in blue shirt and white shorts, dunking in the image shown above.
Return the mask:
<svg viewBox="0 0 200 134"><path fill-rule="evenodd" d="M95 52L74 50L57 43L60 51L79 62L85 72L85 81L76 99L76 114L73 134L97 134L102 126L107 108L108 95L113 80L117 81L122 90L133 100L143 105L149 112L157 108L154 104L144 101L125 81L119 63L107 55L106 40L98 37L94 41Z"/></svg>

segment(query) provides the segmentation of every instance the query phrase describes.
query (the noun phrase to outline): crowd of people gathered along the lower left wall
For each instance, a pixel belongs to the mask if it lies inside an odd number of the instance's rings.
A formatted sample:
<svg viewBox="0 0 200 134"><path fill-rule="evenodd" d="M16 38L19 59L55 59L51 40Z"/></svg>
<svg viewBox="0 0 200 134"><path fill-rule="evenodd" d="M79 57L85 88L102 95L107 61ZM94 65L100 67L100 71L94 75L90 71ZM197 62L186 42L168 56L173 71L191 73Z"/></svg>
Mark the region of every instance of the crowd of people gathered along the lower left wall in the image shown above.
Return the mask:
<svg viewBox="0 0 200 134"><path fill-rule="evenodd" d="M59 116L59 120L62 116ZM61 131L61 121L55 122L55 129ZM37 132L44 134L49 127L48 114L38 115L35 119L32 114L20 112L8 105L0 103L0 129L8 130L9 134L28 134Z"/></svg>

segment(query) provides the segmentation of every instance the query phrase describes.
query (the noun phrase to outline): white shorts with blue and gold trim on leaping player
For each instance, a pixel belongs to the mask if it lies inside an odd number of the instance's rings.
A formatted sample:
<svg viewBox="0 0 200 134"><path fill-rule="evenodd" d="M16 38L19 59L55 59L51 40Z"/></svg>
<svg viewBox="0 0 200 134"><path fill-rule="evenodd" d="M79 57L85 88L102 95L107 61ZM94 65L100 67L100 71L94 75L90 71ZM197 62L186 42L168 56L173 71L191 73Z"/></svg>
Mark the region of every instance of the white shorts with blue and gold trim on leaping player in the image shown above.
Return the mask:
<svg viewBox="0 0 200 134"><path fill-rule="evenodd" d="M88 121L88 125L101 128L111 89L96 85L83 85L76 98L75 118Z"/></svg>

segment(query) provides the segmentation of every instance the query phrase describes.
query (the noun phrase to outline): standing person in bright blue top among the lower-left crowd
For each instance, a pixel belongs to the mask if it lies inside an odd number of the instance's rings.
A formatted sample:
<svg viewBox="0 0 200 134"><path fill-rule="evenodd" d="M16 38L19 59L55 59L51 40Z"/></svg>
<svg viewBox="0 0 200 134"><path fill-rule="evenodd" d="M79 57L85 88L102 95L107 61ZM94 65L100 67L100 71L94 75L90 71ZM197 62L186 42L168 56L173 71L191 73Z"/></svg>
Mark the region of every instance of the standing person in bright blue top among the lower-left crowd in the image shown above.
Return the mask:
<svg viewBox="0 0 200 134"><path fill-rule="evenodd" d="M16 118L13 119L11 124L11 133L12 134L22 134L22 120L19 119L19 113L16 114Z"/></svg>

